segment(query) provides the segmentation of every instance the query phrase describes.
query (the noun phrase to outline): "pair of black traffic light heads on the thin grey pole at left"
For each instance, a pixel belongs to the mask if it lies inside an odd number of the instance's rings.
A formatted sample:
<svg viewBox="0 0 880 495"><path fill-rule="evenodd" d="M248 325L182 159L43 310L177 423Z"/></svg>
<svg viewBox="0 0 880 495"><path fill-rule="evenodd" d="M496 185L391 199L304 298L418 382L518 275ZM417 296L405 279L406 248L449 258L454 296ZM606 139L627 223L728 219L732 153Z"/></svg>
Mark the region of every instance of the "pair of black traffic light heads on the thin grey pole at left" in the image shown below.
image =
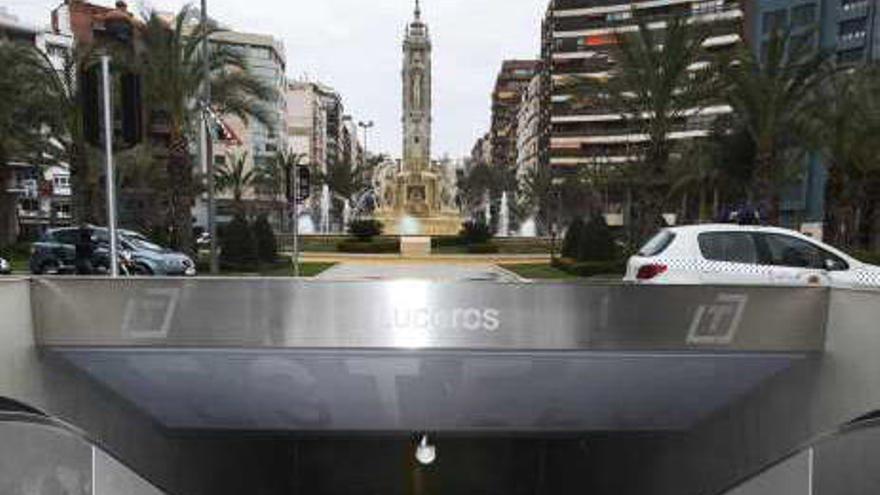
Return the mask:
<svg viewBox="0 0 880 495"><path fill-rule="evenodd" d="M104 144L104 94L101 65L94 64L80 74L83 129L86 141L95 147ZM143 140L141 77L130 71L111 69L113 101L113 148L126 150Z"/></svg>

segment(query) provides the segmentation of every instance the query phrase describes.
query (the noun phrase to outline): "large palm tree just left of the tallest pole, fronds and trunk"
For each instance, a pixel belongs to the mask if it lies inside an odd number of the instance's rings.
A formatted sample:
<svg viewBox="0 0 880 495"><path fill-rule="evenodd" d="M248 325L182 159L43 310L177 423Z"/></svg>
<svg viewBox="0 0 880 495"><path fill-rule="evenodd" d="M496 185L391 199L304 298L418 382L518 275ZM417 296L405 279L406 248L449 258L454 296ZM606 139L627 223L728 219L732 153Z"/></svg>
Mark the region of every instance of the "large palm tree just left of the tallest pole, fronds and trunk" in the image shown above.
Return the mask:
<svg viewBox="0 0 880 495"><path fill-rule="evenodd" d="M152 13L145 28L145 102L153 124L168 130L166 162L172 245L192 250L192 204L196 194L190 142L199 125L199 96L202 89L202 51L205 40L220 32L216 26L193 29L197 13L184 7L169 25ZM269 86L256 79L244 56L231 46L213 44L209 72L211 106L220 115L234 115L243 121L256 119L275 124L266 106L277 97Z"/></svg>

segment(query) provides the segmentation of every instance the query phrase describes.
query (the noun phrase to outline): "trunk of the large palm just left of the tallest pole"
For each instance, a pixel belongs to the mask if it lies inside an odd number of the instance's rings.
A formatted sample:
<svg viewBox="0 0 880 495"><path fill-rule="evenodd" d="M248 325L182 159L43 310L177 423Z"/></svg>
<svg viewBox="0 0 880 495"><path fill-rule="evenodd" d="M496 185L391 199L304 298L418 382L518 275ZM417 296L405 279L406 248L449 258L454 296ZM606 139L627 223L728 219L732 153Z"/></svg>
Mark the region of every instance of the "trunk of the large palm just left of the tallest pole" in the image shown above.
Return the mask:
<svg viewBox="0 0 880 495"><path fill-rule="evenodd" d="M171 182L168 188L168 226L170 227L171 247L193 255L195 251L192 235L193 172L188 143L183 136L172 140L167 172Z"/></svg>

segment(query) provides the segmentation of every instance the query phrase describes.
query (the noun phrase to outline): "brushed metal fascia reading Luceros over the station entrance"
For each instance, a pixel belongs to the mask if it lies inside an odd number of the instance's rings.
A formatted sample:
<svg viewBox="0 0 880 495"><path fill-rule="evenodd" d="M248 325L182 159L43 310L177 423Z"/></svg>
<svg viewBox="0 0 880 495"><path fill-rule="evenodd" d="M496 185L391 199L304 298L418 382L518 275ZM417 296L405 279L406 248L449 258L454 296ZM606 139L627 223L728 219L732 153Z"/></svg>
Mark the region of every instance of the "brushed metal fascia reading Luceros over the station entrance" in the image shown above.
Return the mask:
<svg viewBox="0 0 880 495"><path fill-rule="evenodd" d="M828 291L779 287L32 281L44 346L821 351Z"/></svg>

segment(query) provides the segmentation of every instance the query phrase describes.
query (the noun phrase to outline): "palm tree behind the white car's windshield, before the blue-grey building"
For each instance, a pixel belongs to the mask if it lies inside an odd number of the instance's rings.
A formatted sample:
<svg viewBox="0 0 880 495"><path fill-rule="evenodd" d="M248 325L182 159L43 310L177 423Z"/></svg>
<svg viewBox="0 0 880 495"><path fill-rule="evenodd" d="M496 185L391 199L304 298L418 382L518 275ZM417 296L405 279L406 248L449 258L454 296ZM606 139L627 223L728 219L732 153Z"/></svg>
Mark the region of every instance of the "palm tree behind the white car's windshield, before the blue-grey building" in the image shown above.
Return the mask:
<svg viewBox="0 0 880 495"><path fill-rule="evenodd" d="M755 146L749 199L766 208L771 223L779 221L779 185L792 165L787 151L793 131L829 74L826 62L812 43L775 31L760 55L743 47L725 64L726 99Z"/></svg>

